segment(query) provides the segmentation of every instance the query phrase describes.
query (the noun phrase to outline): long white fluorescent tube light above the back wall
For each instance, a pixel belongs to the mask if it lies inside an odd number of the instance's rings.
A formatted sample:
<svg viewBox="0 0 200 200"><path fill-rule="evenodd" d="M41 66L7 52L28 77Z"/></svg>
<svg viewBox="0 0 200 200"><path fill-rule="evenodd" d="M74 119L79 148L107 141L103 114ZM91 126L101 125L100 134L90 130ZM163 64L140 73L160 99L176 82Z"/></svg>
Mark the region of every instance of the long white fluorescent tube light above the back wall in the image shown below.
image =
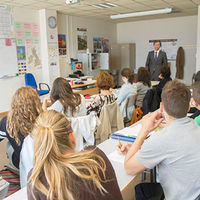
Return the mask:
<svg viewBox="0 0 200 200"><path fill-rule="evenodd" d="M150 11L143 11L143 12L135 12L135 13L126 13L126 14L118 14L118 15L111 15L111 19L121 19L121 18L128 18L128 17L140 17L146 15L158 15L158 14L165 14L172 12L172 8L165 8L159 10L150 10Z"/></svg>

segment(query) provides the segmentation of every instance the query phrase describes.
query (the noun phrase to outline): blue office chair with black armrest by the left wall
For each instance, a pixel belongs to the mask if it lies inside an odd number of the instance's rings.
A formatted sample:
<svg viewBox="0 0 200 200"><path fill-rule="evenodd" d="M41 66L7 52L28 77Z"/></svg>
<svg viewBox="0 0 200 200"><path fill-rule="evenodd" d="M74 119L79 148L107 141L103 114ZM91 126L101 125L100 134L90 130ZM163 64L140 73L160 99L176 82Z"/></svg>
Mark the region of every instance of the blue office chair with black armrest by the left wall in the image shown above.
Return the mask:
<svg viewBox="0 0 200 200"><path fill-rule="evenodd" d="M39 90L38 90L37 83L35 81L35 77L31 73L25 74L25 83L26 83L26 86L30 86L30 87L36 89L40 96L48 94L50 91L50 88L46 83L39 83ZM41 87L42 85L46 85L47 90L42 90L42 87Z"/></svg>

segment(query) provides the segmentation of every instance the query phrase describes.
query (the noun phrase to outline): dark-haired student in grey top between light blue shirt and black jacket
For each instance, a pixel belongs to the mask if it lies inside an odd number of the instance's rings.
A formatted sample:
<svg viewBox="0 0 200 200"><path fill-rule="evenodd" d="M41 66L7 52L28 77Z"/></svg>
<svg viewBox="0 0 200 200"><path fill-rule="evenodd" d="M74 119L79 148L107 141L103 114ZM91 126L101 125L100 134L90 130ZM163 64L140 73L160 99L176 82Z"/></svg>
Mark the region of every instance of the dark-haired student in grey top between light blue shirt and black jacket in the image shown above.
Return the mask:
<svg viewBox="0 0 200 200"><path fill-rule="evenodd" d="M151 88L151 74L145 67L140 67L137 73L137 94L138 94L138 106L142 107L142 101L144 96Z"/></svg>

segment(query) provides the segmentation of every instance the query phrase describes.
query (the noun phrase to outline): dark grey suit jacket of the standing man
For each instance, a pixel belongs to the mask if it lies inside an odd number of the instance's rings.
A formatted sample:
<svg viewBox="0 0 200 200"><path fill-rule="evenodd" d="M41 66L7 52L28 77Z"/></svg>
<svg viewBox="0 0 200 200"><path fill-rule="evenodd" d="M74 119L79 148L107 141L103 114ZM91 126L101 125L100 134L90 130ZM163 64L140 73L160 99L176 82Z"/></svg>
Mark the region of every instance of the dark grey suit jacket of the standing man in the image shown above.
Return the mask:
<svg viewBox="0 0 200 200"><path fill-rule="evenodd" d="M153 81L158 81L160 74L160 66L167 65L167 55L164 51L160 50L158 54L157 61L154 61L154 51L150 51L147 56L146 67L151 73L151 79Z"/></svg>

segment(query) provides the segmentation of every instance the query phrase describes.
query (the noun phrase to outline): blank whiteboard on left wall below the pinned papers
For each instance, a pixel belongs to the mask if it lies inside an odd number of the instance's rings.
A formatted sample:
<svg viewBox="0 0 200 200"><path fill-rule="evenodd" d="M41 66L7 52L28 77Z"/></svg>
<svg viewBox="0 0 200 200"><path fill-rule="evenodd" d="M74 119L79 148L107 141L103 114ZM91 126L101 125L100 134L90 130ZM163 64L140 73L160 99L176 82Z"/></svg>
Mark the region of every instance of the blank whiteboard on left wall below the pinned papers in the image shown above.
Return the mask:
<svg viewBox="0 0 200 200"><path fill-rule="evenodd" d="M6 39L0 39L0 78L14 76L18 73L17 49L15 39L6 44Z"/></svg>

